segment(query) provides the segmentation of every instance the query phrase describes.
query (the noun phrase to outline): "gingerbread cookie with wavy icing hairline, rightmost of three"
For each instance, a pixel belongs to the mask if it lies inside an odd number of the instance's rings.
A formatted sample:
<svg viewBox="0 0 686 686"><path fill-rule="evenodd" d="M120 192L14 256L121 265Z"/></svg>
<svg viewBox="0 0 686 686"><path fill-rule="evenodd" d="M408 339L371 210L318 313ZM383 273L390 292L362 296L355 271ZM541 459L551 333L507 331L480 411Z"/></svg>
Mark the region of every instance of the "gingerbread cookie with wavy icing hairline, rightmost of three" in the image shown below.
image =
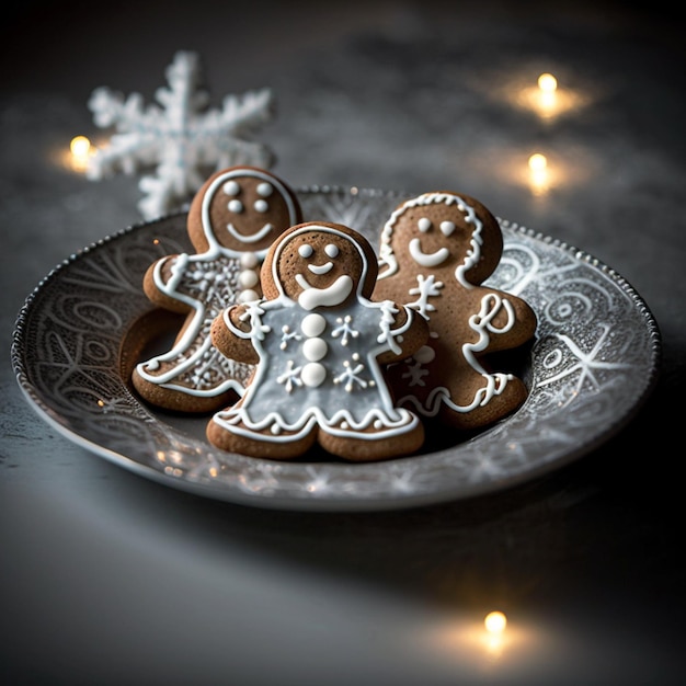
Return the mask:
<svg viewBox="0 0 686 686"><path fill-rule="evenodd" d="M526 301L482 285L502 250L498 220L468 195L424 193L391 214L374 295L421 312L431 331L422 350L387 370L401 407L473 430L527 398L519 378L491 369L493 353L523 345L536 331Z"/></svg>

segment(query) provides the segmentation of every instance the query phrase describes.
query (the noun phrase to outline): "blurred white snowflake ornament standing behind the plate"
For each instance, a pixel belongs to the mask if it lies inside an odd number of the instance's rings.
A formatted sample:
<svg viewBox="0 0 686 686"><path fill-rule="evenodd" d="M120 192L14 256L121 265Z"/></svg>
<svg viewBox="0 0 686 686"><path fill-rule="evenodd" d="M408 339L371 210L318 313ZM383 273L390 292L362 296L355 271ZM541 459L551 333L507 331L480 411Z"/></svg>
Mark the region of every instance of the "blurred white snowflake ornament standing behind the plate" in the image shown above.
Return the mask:
<svg viewBox="0 0 686 686"><path fill-rule="evenodd" d="M155 94L161 106L145 107L139 93L125 99L104 87L89 100L95 124L115 126L117 133L91 158L87 175L101 180L155 167L156 173L141 176L138 184L145 193L138 208L146 219L186 203L213 171L235 164L268 168L273 162L268 148L244 139L272 117L271 90L227 95L221 110L208 108L201 77L197 54L179 52L167 68L169 88Z"/></svg>

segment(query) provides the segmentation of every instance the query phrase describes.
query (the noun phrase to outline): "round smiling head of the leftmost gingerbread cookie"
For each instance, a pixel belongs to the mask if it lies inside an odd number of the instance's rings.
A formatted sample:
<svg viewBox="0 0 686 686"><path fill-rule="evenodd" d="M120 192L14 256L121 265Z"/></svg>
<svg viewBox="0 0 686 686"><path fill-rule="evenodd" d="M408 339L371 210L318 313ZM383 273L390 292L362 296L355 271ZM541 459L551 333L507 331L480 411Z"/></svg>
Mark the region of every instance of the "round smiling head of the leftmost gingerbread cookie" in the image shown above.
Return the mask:
<svg viewBox="0 0 686 686"><path fill-rule="evenodd" d="M266 170L236 167L210 176L191 206L188 231L199 251L213 244L263 253L301 220L294 192Z"/></svg>

